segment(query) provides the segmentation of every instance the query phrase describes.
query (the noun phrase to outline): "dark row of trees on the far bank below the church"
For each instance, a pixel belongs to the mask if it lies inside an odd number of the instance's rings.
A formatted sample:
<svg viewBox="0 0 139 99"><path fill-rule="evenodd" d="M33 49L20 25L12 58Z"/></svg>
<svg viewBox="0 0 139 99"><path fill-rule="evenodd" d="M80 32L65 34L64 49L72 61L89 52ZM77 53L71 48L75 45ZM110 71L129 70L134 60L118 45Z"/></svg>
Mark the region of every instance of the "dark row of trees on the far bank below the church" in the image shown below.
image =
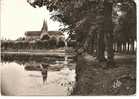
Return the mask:
<svg viewBox="0 0 139 99"><path fill-rule="evenodd" d="M19 50L19 49L52 49L64 47L64 40L57 41L56 39L50 40L37 40L37 41L12 41L5 40L1 41L2 50Z"/></svg>

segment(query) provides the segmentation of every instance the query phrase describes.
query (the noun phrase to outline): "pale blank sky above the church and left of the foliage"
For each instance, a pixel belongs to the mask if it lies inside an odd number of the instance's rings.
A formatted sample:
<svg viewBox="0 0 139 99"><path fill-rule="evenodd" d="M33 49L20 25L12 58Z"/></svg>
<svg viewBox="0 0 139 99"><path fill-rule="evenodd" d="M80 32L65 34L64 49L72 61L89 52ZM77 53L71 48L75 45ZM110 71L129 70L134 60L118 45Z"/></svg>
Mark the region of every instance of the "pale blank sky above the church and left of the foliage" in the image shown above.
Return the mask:
<svg viewBox="0 0 139 99"><path fill-rule="evenodd" d="M24 37L25 31L40 31L43 20L48 30L58 30L59 22L50 20L46 7L33 8L27 0L1 0L1 39Z"/></svg>

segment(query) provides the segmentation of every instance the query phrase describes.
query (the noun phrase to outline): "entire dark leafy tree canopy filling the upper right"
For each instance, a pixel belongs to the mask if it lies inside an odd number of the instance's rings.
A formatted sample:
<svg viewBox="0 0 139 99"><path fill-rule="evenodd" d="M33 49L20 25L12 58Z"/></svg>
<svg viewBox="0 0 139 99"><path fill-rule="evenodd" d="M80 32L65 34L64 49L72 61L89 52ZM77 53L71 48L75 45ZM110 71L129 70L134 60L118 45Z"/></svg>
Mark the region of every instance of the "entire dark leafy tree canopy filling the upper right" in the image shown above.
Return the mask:
<svg viewBox="0 0 139 99"><path fill-rule="evenodd" d="M27 0L33 7L46 8L52 19L63 23L70 35L76 34L77 47L87 50L98 39L98 49L105 47L105 36L129 40L136 37L136 4L134 0ZM105 32L107 32L105 34ZM110 33L111 32L111 33ZM110 33L110 36L109 34ZM126 36L125 36L126 35ZM109 42L109 41L108 41ZM112 47L112 44L107 44ZM97 50L98 50L97 49ZM110 49L110 48L109 48ZM99 52L100 53L100 52Z"/></svg>

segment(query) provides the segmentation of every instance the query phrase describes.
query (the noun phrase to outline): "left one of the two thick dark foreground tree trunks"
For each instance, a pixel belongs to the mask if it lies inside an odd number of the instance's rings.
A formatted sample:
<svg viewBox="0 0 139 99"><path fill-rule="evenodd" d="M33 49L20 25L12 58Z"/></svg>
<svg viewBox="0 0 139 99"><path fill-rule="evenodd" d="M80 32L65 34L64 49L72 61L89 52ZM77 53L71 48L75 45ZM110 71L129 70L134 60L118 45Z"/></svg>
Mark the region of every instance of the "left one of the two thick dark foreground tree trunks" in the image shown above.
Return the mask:
<svg viewBox="0 0 139 99"><path fill-rule="evenodd" d="M105 61L105 43L104 43L104 3L101 3L100 8L97 10L97 55L96 58L99 62Z"/></svg>

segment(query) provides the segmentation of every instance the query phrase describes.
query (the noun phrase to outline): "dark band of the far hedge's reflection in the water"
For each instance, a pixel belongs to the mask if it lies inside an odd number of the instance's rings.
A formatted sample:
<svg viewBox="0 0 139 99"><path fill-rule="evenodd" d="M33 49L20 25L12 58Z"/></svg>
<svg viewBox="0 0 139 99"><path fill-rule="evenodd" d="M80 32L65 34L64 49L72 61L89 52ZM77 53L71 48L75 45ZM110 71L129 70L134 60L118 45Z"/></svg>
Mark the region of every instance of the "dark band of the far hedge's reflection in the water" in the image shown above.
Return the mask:
<svg viewBox="0 0 139 99"><path fill-rule="evenodd" d="M46 62L46 63L55 63L57 61L64 61L65 58L57 55L34 55L34 54L1 54L2 62L18 62L18 63L26 63L26 62Z"/></svg>

